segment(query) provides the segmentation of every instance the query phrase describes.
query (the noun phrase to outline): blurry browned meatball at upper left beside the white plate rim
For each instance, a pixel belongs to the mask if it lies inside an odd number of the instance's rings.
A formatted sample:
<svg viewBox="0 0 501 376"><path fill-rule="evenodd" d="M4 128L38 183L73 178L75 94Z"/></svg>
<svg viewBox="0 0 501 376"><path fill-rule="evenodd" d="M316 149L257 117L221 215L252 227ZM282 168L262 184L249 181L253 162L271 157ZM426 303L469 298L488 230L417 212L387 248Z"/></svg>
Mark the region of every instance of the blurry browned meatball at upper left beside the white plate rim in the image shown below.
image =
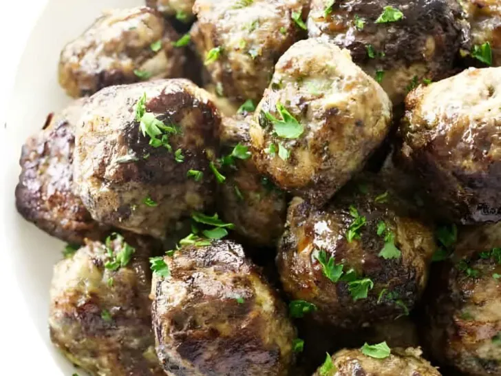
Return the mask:
<svg viewBox="0 0 501 376"><path fill-rule="evenodd" d="M59 59L59 83L70 96L103 87L182 75L178 34L151 8L111 10L77 39Z"/></svg>

